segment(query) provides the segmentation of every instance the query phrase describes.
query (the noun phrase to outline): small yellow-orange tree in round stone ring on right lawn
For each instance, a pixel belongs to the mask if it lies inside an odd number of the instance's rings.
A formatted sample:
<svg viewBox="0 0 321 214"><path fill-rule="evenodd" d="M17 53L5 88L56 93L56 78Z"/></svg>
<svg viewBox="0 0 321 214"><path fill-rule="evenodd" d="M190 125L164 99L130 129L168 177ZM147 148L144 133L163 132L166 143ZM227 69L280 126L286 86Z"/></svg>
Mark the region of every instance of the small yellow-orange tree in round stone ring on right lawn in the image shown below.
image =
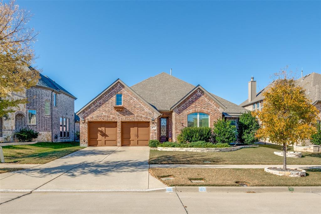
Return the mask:
<svg viewBox="0 0 321 214"><path fill-rule="evenodd" d="M287 78L286 71L275 75L272 87L263 93L264 108L253 114L261 123L256 137L283 145L283 170L286 170L286 147L316 133L318 110L294 78Z"/></svg>

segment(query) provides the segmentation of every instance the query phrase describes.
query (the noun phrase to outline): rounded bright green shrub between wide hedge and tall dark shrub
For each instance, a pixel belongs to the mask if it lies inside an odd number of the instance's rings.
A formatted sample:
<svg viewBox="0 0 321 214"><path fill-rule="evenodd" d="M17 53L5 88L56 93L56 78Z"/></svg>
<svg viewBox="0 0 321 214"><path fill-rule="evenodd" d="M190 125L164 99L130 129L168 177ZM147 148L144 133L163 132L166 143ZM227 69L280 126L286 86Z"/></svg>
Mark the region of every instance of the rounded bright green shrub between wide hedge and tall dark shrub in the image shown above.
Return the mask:
<svg viewBox="0 0 321 214"><path fill-rule="evenodd" d="M219 119L214 123L213 135L218 143L232 143L236 140L236 127L230 120Z"/></svg>

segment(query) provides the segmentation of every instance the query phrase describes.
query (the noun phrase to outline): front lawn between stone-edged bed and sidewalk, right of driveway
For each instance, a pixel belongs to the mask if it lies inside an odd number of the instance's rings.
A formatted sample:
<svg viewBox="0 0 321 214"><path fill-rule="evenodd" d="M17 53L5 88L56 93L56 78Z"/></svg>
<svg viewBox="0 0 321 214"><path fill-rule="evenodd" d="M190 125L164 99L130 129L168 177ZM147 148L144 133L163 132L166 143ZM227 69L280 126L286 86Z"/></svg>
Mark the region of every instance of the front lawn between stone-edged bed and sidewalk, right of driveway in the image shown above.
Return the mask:
<svg viewBox="0 0 321 214"><path fill-rule="evenodd" d="M292 149L292 148L291 148ZM289 149L289 151L291 151ZM177 152L151 150L150 164L283 164L283 157L274 155L278 145L259 145L232 152ZM292 150L293 151L293 150ZM209 161L210 163L204 163ZM321 165L321 154L303 152L302 158L287 158L287 164Z"/></svg>

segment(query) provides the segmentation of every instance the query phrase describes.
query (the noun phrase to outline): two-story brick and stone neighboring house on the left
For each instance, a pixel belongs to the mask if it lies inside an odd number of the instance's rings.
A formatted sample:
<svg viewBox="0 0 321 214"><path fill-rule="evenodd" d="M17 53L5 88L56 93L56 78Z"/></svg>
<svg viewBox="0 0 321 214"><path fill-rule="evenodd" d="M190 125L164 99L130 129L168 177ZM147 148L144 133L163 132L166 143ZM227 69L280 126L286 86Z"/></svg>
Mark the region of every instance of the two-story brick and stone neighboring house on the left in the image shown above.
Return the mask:
<svg viewBox="0 0 321 214"><path fill-rule="evenodd" d="M0 118L0 141L16 141L13 134L22 128L39 132L36 141L59 142L74 140L74 95L62 86L40 74L34 87L23 92L12 92L9 99L27 98L28 103L20 104Z"/></svg>

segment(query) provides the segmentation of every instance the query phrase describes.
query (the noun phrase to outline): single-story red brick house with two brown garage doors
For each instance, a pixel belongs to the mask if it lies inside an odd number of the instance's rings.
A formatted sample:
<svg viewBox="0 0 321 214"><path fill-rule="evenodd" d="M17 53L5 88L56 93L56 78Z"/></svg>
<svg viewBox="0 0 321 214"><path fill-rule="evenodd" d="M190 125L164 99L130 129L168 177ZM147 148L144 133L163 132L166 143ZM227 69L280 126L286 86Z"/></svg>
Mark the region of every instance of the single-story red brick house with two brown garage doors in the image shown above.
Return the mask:
<svg viewBox="0 0 321 214"><path fill-rule="evenodd" d="M147 146L150 139L176 141L187 126L213 127L219 118L236 126L247 110L166 73L132 87L120 79L76 114L81 146Z"/></svg>

